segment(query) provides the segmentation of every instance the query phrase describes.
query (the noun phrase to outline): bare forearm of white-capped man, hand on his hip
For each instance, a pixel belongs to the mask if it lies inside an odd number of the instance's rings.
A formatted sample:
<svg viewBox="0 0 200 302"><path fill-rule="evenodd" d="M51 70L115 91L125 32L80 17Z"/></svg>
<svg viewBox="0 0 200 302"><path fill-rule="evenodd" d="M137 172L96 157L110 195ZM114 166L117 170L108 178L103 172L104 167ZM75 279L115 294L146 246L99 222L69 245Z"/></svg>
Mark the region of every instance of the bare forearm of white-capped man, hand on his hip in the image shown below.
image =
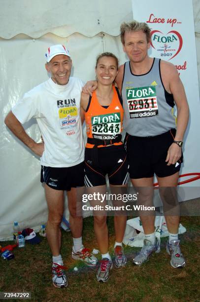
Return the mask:
<svg viewBox="0 0 200 302"><path fill-rule="evenodd" d="M25 132L22 124L12 113L12 111L7 114L4 122L12 133L27 147L29 147L29 149L31 149L36 155L42 156L44 151L44 143L35 143L35 141L33 141L33 139Z"/></svg>

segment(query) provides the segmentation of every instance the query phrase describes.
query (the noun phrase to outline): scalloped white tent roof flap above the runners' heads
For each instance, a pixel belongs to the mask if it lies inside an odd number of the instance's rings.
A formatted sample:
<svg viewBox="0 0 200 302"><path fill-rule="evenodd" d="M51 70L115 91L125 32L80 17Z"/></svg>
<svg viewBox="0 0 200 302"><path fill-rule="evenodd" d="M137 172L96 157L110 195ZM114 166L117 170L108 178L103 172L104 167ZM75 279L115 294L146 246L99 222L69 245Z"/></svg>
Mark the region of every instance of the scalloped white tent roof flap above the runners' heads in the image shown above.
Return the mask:
<svg viewBox="0 0 200 302"><path fill-rule="evenodd" d="M133 19L131 0L1 0L0 37L18 34L31 38L52 33L68 37L80 33L94 37L100 32L119 35L120 24Z"/></svg>

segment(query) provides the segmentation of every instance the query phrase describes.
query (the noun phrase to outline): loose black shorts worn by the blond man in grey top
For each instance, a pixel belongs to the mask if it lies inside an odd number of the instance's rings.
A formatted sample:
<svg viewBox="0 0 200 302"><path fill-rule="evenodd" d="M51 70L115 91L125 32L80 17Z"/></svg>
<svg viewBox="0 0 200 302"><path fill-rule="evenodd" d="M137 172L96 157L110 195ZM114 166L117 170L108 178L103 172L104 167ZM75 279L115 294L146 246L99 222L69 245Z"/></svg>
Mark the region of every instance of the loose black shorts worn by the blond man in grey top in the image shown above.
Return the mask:
<svg viewBox="0 0 200 302"><path fill-rule="evenodd" d="M131 179L167 177L180 170L183 154L175 163L167 166L166 157L176 134L175 129L150 137L138 137L126 134L124 144L127 149L129 173Z"/></svg>

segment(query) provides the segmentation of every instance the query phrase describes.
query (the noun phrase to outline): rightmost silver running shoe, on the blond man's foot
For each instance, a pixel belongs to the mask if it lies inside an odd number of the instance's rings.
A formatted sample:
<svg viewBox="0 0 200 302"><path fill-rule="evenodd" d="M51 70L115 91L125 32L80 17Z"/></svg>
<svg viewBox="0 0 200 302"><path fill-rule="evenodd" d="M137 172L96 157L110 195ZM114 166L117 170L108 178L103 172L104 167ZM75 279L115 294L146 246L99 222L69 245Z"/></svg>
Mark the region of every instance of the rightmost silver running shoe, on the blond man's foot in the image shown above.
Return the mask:
<svg viewBox="0 0 200 302"><path fill-rule="evenodd" d="M180 240L171 240L171 243L167 241L166 246L167 254L171 255L170 264L174 268L185 267L185 259L181 253Z"/></svg>

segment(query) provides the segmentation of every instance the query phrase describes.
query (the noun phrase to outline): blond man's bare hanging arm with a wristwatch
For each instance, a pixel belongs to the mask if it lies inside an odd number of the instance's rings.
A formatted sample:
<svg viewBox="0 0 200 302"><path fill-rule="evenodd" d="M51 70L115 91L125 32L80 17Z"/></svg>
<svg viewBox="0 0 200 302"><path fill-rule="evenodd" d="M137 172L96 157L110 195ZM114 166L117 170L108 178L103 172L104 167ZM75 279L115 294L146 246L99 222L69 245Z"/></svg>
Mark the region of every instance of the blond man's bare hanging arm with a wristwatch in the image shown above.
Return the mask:
<svg viewBox="0 0 200 302"><path fill-rule="evenodd" d="M165 76L163 77L163 73ZM187 128L189 119L189 107L185 94L185 90L178 72L172 64L165 62L161 64L161 75L164 78L164 85L167 85L167 91L173 94L173 98L177 107L177 130L175 141L183 141L184 133ZM166 84L165 84L166 83ZM181 148L172 144L167 153L166 161L167 165L174 164L181 156Z"/></svg>

